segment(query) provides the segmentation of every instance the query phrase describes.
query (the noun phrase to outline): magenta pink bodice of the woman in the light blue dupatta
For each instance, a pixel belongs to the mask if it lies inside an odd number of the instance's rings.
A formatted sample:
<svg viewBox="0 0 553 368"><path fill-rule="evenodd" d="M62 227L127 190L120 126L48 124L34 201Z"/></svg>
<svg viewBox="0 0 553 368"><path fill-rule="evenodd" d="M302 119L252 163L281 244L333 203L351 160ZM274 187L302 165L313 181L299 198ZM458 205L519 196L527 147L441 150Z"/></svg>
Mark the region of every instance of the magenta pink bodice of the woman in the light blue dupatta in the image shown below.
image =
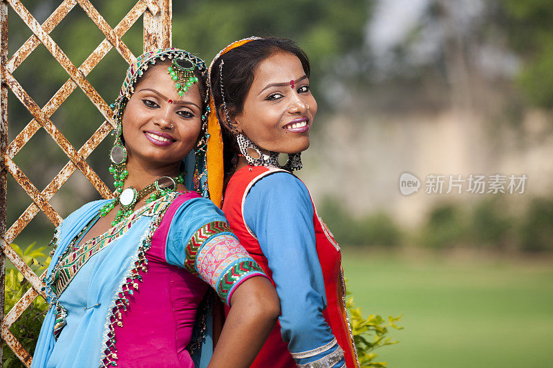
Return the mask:
<svg viewBox="0 0 553 368"><path fill-rule="evenodd" d="M198 304L209 285L198 275L169 264L166 246L176 211L182 203L196 197L199 197L196 193L185 193L174 200L153 233L151 248L146 253L148 271L139 271L144 281L123 313L123 327L115 327L118 367L194 368L186 347L191 341ZM210 243L216 244L216 237ZM226 242L229 245L235 248L228 252L230 258L244 253L238 242ZM221 250L226 252L224 248ZM244 275L234 286L254 275L259 272Z"/></svg>

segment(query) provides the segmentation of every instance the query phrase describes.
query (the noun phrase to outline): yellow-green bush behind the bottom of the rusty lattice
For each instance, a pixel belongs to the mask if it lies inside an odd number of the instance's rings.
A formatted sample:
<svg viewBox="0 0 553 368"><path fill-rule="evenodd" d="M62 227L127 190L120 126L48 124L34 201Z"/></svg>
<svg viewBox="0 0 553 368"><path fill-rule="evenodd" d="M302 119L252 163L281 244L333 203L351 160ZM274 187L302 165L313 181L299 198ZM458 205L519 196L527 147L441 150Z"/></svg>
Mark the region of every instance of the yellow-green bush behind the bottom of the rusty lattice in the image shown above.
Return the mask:
<svg viewBox="0 0 553 368"><path fill-rule="evenodd" d="M11 244L12 248L23 258L31 269L35 271L35 273L40 274L48 267L50 258L46 258L44 254L46 246L35 248L35 245L36 243L32 243L25 251L22 251L16 244ZM44 260L44 262L40 262L40 260ZM8 311L12 309L29 287L29 283L17 269L8 269L6 271L4 313L8 313ZM44 298L39 296L33 300L32 304L21 314L21 317L10 327L11 333L13 333L15 338L21 342L21 345L23 345L30 354L35 351L40 327L42 326L42 321L44 321L47 310L48 304L46 304ZM25 367L6 343L3 345L2 367Z"/></svg>

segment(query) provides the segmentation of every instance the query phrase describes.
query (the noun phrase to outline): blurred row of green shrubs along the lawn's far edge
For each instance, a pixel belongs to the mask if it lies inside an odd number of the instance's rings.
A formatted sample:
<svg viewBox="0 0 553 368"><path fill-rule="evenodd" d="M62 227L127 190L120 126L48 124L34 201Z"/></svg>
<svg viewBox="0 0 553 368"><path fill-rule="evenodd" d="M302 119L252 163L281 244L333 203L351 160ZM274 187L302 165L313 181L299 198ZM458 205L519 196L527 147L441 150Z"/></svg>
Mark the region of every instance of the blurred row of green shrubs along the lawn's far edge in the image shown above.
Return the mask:
<svg viewBox="0 0 553 368"><path fill-rule="evenodd" d="M553 251L553 198L534 198L524 209L496 195L480 202L440 203L418 229L407 231L384 211L352 215L326 198L319 214L341 246L454 246L496 251Z"/></svg>

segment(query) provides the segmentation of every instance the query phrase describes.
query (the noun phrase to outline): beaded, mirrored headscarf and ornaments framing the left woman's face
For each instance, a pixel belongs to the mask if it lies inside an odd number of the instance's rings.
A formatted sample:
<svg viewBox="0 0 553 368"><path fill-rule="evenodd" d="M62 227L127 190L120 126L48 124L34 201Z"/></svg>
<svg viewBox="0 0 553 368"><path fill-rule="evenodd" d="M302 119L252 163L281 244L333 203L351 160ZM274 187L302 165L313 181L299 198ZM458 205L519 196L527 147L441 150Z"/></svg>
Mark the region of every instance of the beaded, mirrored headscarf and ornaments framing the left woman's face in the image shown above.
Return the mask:
<svg viewBox="0 0 553 368"><path fill-rule="evenodd" d="M122 118L131 95L135 92L134 88L138 81L138 78L144 75L144 72L150 67L156 64L157 61L171 60L171 66L167 68L167 74L175 81L176 92L179 96L184 95L192 84L198 83L198 77L194 75L194 69L198 69L207 80L207 67L205 62L190 52L180 50L178 48L160 48L149 52L144 52L136 59L136 61L129 66L126 71L126 76L121 86L120 93L115 99L115 103L111 104L113 108L113 117L117 122L117 127L112 135L115 135L115 142L113 148L111 148L110 159L111 166L109 172L113 175L116 194L119 196L123 192L123 180L129 173L126 171L125 163L127 159L126 148L124 147L124 139L122 136ZM206 96L209 96L209 86L205 86ZM205 100L205 106L207 106L207 98ZM169 100L171 103L172 100ZM185 170L189 171L186 177L184 174L179 177L169 178L174 180L174 184L178 182L184 182L187 188L194 187L194 191L200 193L203 197L209 197L209 188L207 187L207 173L206 173L206 144L209 135L207 134L207 115L209 114L209 107L205 108L202 112L202 128L200 138L196 145L196 151L188 155L184 160ZM191 162L193 161L193 162ZM164 177L165 178L165 177ZM169 187L173 186L170 180ZM157 182L157 181L156 181ZM163 194L162 189L165 188L163 184L153 183L153 189ZM126 201L126 198L121 198Z"/></svg>

